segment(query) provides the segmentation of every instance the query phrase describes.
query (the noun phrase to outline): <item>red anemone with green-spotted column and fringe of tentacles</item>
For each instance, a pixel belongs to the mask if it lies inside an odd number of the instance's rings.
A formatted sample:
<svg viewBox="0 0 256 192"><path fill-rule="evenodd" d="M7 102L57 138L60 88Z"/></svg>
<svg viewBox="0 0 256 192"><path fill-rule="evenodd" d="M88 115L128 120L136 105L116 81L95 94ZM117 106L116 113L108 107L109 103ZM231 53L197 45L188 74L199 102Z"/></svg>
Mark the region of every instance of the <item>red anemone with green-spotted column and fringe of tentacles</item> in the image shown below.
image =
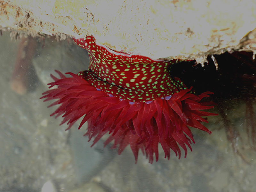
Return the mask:
<svg viewBox="0 0 256 192"><path fill-rule="evenodd" d="M93 36L74 39L75 43L88 51L89 69L77 75L56 71L53 75L54 89L44 92L44 101L57 99L49 107L60 105L51 116L63 117L61 124L71 126L81 117L78 127L87 122L85 133L92 146L109 134L105 146L113 141L112 148L121 154L130 145L137 162L139 150L149 159L158 160L158 144L165 158L170 151L181 156L180 147L187 155L195 143L189 127L211 134L201 122L202 116L216 115L201 111L213 108L202 102L212 92L195 95L179 78L172 77L170 70L178 60L153 60L141 55L116 52L96 44Z"/></svg>

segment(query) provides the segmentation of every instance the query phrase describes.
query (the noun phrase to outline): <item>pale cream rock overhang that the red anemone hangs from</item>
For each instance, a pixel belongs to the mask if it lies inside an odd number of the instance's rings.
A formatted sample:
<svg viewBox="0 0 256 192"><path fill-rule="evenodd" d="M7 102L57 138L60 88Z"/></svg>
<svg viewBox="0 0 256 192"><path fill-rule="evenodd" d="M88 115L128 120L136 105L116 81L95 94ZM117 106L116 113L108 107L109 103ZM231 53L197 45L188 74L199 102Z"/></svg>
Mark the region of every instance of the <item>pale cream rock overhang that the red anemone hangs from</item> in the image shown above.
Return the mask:
<svg viewBox="0 0 256 192"><path fill-rule="evenodd" d="M255 50L255 1L0 0L0 26L32 35L95 36L116 51L196 59Z"/></svg>

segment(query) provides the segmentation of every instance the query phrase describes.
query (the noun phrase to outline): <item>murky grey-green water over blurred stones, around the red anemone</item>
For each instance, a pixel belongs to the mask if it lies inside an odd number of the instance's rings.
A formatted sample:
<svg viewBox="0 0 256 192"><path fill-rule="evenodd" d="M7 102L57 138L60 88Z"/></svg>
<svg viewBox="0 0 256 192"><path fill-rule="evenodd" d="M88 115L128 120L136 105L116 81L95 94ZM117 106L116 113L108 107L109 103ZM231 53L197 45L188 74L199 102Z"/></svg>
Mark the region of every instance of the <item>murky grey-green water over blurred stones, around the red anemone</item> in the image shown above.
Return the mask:
<svg viewBox="0 0 256 192"><path fill-rule="evenodd" d="M19 40L11 41L10 33L3 32L0 44L0 191L41 191L44 184L43 191L58 192L256 191L256 151L241 141L248 140L243 102L226 113L240 132L235 145L246 161L233 151L218 116L209 118L206 125L211 135L192 130L196 144L186 159L179 160L172 153L168 161L159 147L158 162L149 164L140 153L134 164L128 147L120 156L103 148L102 141L90 148L91 143L83 137L86 126L77 130L75 124L65 131L68 126L59 126L61 118L49 116L54 111L47 108L50 102L39 99L55 69L77 73L87 68L84 50L71 40L37 42L33 67L26 74L28 92L19 95L10 86Z"/></svg>

